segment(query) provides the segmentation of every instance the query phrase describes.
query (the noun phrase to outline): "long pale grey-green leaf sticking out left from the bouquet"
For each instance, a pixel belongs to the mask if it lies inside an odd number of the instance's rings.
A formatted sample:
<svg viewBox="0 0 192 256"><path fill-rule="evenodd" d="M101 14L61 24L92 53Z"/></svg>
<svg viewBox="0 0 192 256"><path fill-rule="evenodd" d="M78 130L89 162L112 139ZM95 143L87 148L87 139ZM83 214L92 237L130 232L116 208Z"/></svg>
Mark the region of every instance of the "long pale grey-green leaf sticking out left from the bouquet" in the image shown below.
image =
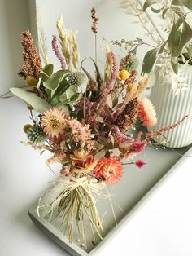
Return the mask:
<svg viewBox="0 0 192 256"><path fill-rule="evenodd" d="M20 88L11 88L10 90L15 96L26 101L35 110L37 110L40 113L43 113L46 111L46 109L51 108L51 105L48 104L46 100L41 99L40 97L38 97L37 95L34 95L33 93L30 93Z"/></svg>

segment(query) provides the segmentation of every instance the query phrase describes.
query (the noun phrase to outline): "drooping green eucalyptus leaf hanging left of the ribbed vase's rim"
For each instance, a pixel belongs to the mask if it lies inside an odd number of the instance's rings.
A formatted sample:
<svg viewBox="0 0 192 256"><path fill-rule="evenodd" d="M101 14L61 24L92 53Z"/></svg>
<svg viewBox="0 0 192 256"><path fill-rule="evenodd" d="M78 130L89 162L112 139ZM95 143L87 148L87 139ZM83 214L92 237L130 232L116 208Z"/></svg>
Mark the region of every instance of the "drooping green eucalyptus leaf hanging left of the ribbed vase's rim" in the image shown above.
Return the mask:
<svg viewBox="0 0 192 256"><path fill-rule="evenodd" d="M142 64L142 73L150 73L153 65L155 64L155 59L157 55L157 48L146 52Z"/></svg>

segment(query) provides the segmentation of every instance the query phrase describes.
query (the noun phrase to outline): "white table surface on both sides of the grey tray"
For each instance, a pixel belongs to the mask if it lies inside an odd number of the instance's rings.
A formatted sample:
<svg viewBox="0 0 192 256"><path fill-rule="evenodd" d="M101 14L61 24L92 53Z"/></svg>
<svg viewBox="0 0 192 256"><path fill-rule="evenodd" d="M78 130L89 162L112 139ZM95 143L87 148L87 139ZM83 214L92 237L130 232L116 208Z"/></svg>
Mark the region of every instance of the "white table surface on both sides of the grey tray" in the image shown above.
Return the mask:
<svg viewBox="0 0 192 256"><path fill-rule="evenodd" d="M20 143L27 118L20 99L0 99L0 255L68 255L28 218L28 208L55 176L46 155ZM192 255L192 157L185 158L99 256Z"/></svg>

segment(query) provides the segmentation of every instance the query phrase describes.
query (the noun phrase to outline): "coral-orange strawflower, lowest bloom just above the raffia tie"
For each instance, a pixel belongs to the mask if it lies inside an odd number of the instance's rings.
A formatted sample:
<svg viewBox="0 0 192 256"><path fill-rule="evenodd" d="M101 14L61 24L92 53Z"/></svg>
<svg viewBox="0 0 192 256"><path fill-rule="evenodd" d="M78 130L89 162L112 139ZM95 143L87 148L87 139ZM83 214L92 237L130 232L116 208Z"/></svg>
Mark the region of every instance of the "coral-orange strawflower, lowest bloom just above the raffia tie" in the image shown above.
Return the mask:
<svg viewBox="0 0 192 256"><path fill-rule="evenodd" d="M116 157L103 157L94 168L93 175L98 179L104 179L106 183L116 183L122 176L123 166Z"/></svg>

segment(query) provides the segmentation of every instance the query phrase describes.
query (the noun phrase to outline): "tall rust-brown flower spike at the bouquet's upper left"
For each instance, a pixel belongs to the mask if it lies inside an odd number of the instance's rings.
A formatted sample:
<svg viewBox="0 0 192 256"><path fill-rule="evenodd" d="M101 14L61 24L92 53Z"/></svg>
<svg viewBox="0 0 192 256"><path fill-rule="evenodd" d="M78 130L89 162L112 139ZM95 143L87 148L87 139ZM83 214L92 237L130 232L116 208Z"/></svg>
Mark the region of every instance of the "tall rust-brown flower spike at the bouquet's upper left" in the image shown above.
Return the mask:
<svg viewBox="0 0 192 256"><path fill-rule="evenodd" d="M20 68L20 77L24 79L28 77L38 78L41 74L41 59L34 46L32 34L26 30L21 34L21 44L24 46L23 58L25 64Z"/></svg>

